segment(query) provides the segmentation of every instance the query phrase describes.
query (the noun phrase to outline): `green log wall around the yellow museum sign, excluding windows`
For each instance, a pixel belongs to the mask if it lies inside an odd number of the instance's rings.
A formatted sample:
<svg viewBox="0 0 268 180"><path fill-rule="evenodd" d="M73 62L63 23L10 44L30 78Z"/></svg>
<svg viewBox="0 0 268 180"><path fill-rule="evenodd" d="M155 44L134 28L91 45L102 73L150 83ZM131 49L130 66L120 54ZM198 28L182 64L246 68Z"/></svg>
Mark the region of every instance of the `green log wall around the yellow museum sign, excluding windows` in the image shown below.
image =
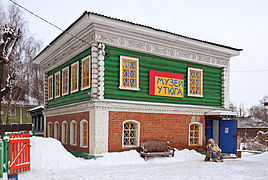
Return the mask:
<svg viewBox="0 0 268 180"><path fill-rule="evenodd" d="M119 89L120 55L139 58L139 91ZM203 97L187 96L188 67L203 69ZM183 74L184 98L149 95L149 70ZM106 46L104 98L220 107L222 106L221 73L222 69L218 67Z"/></svg>

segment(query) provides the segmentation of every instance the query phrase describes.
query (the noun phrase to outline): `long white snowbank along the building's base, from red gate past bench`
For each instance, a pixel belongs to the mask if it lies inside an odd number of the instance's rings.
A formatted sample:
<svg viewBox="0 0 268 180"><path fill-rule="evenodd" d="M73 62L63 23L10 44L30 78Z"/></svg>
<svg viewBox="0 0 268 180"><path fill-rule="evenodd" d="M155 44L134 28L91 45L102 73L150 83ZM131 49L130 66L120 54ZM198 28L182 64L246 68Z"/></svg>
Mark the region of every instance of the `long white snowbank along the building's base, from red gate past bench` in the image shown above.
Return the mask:
<svg viewBox="0 0 268 180"><path fill-rule="evenodd" d="M138 165L146 163L168 163L177 161L202 161L204 156L195 150L184 149L175 151L174 158L159 157L149 158L145 161L135 150L104 153L103 157L96 160L84 160L76 158L70 154L61 144L54 138L31 138L31 168L32 170L59 170L73 168L75 166L86 165L102 165L102 166L118 166L118 165Z"/></svg>

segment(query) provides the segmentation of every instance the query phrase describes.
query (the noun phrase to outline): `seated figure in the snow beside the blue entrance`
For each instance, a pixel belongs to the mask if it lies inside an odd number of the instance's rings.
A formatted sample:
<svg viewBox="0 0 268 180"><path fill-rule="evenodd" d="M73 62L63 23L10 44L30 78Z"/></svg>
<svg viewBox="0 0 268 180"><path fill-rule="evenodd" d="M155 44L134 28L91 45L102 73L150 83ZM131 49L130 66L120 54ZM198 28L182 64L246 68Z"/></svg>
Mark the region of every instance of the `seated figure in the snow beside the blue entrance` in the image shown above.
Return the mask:
<svg viewBox="0 0 268 180"><path fill-rule="evenodd" d="M213 162L218 162L218 161L223 162L221 149L219 148L217 144L215 144L212 138L208 140L208 144L206 146L205 161L210 161L210 159L212 159Z"/></svg>

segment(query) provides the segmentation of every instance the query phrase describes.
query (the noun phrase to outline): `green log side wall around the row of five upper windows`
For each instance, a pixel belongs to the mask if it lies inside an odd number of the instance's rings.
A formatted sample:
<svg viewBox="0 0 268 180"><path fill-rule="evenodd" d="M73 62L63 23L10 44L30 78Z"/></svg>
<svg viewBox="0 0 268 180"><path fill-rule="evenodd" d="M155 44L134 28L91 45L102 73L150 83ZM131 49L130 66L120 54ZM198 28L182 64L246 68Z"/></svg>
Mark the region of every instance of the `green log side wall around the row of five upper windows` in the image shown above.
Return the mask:
<svg viewBox="0 0 268 180"><path fill-rule="evenodd" d="M84 57L88 56L91 54L91 50L86 50L85 52L82 52L79 56L71 59L70 61L68 61L67 63L61 65L60 67L50 71L48 73L48 76L50 75L54 75L53 76L53 82L55 83L55 73L57 73L58 71L61 71L63 68L69 66L69 94L62 96L62 80L61 80L61 84L60 84L60 97L58 98L54 98L48 101L48 108L53 108L53 107L58 107L58 106L63 106L63 105L67 105L67 104L72 104L72 103L77 103L77 102L82 102L82 101L89 101L90 100L90 89L86 89L86 90L81 90L81 73L82 73L82 63L81 63L81 59L83 59ZM75 92L75 93L71 93L71 65L75 62L79 61L79 75L78 75L78 89L79 91ZM91 72L90 72L91 73ZM61 72L61 76L62 77L62 72ZM53 97L55 97L55 84L53 85Z"/></svg>

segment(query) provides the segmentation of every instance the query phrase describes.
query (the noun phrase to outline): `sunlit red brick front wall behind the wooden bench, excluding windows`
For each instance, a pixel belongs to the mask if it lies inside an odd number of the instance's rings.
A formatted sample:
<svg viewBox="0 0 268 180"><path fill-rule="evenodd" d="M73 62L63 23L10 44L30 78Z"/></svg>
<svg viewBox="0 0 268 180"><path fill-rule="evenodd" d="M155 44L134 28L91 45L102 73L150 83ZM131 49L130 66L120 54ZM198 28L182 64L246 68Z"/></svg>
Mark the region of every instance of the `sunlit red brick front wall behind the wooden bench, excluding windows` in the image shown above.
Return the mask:
<svg viewBox="0 0 268 180"><path fill-rule="evenodd" d="M160 140L169 141L171 147L177 149L205 148L205 118L197 115L180 115L164 113L109 112L108 151L123 151L122 126L125 120L135 120L140 123L140 142ZM199 122L203 126L202 147L189 147L189 124Z"/></svg>

